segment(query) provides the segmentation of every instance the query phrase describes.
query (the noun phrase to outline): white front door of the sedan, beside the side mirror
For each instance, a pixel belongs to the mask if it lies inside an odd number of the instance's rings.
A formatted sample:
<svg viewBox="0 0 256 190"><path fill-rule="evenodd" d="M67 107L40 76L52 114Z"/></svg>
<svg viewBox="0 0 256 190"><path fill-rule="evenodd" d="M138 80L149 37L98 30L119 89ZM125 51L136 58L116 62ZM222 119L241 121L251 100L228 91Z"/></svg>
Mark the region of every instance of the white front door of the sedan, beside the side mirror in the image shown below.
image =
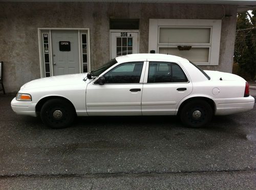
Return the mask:
<svg viewBox="0 0 256 190"><path fill-rule="evenodd" d="M86 91L88 115L141 115L143 65L119 64L103 75L104 85L99 85L97 79L90 83Z"/></svg>

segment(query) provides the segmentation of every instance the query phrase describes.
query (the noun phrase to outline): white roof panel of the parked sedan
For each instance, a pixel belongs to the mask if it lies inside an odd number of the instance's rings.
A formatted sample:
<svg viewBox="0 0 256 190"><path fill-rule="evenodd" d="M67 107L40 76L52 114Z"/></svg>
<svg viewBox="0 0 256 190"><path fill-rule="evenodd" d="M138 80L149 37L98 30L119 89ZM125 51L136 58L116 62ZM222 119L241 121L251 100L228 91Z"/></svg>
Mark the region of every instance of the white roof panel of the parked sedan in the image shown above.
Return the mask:
<svg viewBox="0 0 256 190"><path fill-rule="evenodd" d="M129 62L129 61L168 61L168 62L176 62L176 61L185 61L188 62L187 59L181 58L178 56L160 54L160 53L135 53L126 56L120 56L116 58L117 62Z"/></svg>

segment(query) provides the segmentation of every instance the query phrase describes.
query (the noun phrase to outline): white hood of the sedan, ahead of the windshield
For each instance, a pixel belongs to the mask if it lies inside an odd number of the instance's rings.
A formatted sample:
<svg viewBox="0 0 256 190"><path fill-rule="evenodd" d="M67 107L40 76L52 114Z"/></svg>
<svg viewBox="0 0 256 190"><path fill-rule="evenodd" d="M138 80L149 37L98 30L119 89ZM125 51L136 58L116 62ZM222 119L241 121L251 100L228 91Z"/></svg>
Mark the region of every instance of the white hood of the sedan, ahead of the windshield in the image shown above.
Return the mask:
<svg viewBox="0 0 256 190"><path fill-rule="evenodd" d="M39 78L26 83L20 90L84 83L83 78L86 76L87 73L79 73Z"/></svg>

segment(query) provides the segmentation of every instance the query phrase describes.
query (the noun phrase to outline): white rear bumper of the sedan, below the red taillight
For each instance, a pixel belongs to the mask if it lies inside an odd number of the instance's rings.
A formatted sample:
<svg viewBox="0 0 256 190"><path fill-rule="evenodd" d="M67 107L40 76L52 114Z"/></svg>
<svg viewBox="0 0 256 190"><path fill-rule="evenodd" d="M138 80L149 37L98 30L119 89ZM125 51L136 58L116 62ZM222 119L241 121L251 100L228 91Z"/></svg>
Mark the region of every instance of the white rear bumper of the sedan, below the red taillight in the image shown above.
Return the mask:
<svg viewBox="0 0 256 190"><path fill-rule="evenodd" d="M246 112L254 106L254 98L252 96L242 98L221 98L213 99L216 104L215 115L229 115Z"/></svg>

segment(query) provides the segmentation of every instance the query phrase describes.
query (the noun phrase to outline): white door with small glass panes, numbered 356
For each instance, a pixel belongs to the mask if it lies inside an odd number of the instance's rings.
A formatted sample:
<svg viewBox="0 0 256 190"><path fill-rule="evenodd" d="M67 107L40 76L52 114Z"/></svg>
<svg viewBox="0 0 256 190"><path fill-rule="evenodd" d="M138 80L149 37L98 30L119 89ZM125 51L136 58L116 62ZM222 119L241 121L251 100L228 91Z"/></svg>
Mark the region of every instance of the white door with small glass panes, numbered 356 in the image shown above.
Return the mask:
<svg viewBox="0 0 256 190"><path fill-rule="evenodd" d="M111 32L111 59L139 53L138 32Z"/></svg>

